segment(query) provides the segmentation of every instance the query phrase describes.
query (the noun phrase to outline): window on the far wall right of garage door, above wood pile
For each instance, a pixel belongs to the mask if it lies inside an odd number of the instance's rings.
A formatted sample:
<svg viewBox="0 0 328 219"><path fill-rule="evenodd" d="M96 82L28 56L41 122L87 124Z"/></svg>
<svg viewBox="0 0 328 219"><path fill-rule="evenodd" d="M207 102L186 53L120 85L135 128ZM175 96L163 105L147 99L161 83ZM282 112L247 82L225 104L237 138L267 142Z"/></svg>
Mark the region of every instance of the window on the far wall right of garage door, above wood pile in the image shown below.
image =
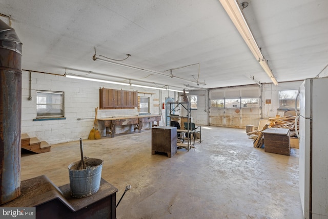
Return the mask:
<svg viewBox="0 0 328 219"><path fill-rule="evenodd" d="M295 101L298 89L295 90L279 90L279 109L289 110L295 109ZM299 101L297 100L297 108L299 109Z"/></svg>

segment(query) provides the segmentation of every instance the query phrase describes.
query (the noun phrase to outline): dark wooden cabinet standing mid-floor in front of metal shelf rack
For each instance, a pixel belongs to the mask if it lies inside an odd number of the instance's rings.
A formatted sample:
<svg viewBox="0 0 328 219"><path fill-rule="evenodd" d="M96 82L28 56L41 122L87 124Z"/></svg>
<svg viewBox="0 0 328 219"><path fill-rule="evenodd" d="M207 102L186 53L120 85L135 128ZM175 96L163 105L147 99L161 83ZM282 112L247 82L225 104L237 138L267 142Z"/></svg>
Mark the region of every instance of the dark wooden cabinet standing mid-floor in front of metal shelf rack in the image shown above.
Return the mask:
<svg viewBox="0 0 328 219"><path fill-rule="evenodd" d="M172 157L177 152L177 128L157 126L152 128L152 154L167 153Z"/></svg>

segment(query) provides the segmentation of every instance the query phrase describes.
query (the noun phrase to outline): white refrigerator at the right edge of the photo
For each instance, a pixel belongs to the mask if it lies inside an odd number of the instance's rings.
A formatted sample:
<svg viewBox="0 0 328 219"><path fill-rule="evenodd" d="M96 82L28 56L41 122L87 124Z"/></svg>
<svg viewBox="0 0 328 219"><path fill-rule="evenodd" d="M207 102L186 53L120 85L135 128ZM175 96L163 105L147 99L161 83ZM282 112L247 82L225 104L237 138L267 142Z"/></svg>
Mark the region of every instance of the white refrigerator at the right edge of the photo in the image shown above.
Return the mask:
<svg viewBox="0 0 328 219"><path fill-rule="evenodd" d="M305 79L299 94L299 192L306 219L328 219L328 78Z"/></svg>

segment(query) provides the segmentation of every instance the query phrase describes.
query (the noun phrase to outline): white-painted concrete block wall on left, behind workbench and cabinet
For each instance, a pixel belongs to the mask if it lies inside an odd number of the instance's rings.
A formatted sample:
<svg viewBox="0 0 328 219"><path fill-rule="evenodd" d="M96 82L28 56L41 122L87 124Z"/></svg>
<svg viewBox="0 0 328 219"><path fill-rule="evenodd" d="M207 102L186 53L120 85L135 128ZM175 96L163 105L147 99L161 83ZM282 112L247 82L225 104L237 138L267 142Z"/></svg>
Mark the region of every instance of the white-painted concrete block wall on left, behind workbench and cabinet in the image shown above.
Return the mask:
<svg viewBox="0 0 328 219"><path fill-rule="evenodd" d="M87 139L93 127L95 108L99 107L99 88L112 88L123 90L136 90L134 87L107 83L84 81L64 76L31 72L31 101L29 71L22 74L22 133L37 137L40 141L49 144L58 144L77 141L79 138ZM142 88L138 88L140 90ZM33 121L36 118L36 90L65 92L66 120ZM155 93L150 96L150 111L159 114L159 107L154 107L154 98L159 98L158 90L144 90ZM148 96L141 94L142 96ZM158 101L155 103L158 104ZM98 118L112 116L137 115L134 109L108 109L99 110ZM99 125L99 131L105 136L105 128ZM146 124L145 128L147 128ZM117 128L116 132L130 132L133 127Z"/></svg>

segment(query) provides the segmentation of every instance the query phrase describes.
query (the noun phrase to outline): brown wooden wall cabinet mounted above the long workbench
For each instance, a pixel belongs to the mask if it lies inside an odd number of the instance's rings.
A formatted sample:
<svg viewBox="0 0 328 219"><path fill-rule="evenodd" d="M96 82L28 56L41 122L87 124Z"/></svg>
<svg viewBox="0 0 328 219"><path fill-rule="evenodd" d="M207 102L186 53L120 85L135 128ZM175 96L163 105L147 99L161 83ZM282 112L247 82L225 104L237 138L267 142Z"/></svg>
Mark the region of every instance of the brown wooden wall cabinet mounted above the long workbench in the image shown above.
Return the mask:
<svg viewBox="0 0 328 219"><path fill-rule="evenodd" d="M137 107L137 99L137 91L99 89L99 109L134 108Z"/></svg>

